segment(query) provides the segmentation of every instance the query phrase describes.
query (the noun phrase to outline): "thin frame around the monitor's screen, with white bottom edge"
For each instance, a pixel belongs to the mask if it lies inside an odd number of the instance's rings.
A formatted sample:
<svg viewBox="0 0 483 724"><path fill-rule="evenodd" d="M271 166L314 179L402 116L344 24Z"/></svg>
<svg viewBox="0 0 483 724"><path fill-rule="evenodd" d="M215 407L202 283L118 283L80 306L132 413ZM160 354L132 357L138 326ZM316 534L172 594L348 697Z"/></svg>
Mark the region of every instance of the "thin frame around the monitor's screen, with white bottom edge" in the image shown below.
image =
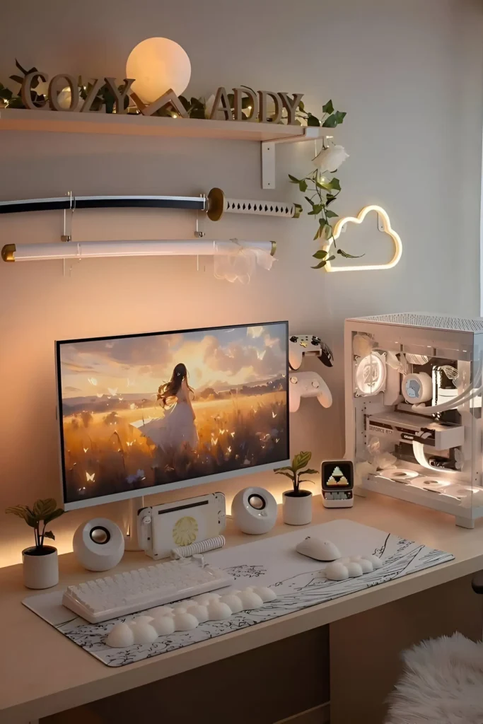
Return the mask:
<svg viewBox="0 0 483 724"><path fill-rule="evenodd" d="M285 376L287 379L287 453L290 456L290 410L289 410L289 375L290 366L288 363L288 350L289 350L289 334L288 334L288 321L282 319L281 321L265 321L265 322L251 322L250 324L220 324L217 327L193 327L193 329L169 329L161 332L139 332L133 334L109 334L106 337L79 337L72 340L56 340L55 342L55 366L56 366L56 390L57 390L57 431L59 441L59 465L60 465L60 482L62 492L62 507L64 510L77 510L79 508L91 508L94 505L104 505L108 502L117 502L119 500L130 500L135 497L143 497L148 495L155 495L161 492L167 492L169 490L177 490L183 488L194 487L196 485L204 485L214 483L223 480L230 480L232 478L238 478L246 475L253 475L253 473L262 473L264 471L271 471L275 468L290 465L290 457L286 460L278 460L276 463L266 463L265 465L253 466L251 468L243 468L239 470L229 471L227 473L214 473L214 475L206 475L198 478L190 478L189 480L177 481L174 483L166 483L164 485L156 485L148 488L138 488L135 490L127 490L122 493L112 493L109 495L102 495L100 497L91 497L86 500L75 500L73 502L67 502L67 487L66 487L66 475L65 475L65 456L64 456L64 426L63 426L63 411L62 411L62 375L61 375L61 346L68 344L75 344L76 342L100 342L109 340L122 340L128 337L156 337L159 334L188 334L189 332L209 332L210 330L219 329L239 329L241 327L268 327L273 324L284 324L285 325Z"/></svg>

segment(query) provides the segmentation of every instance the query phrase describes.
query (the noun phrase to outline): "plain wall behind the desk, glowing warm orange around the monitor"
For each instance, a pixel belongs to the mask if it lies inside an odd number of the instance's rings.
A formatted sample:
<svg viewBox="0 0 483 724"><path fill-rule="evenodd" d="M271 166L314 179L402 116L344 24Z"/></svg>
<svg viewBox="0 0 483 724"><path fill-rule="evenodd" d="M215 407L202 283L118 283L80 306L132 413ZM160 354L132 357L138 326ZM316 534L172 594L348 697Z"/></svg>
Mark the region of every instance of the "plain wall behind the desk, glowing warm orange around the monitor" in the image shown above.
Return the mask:
<svg viewBox="0 0 483 724"><path fill-rule="evenodd" d="M71 277L62 276L62 262L1 264L0 509L58 495L56 339L289 319L293 332L317 332L335 348L335 369L324 370L335 404L324 411L306 401L292 424L293 450L320 458L343 452L345 316L477 313L479 1L7 0L1 24L4 83L15 57L51 75L121 79L136 43L166 35L190 55L193 94L240 83L297 90L314 111L333 98L348 112L337 139L350 153L337 211L381 203L404 253L392 271L329 275L309 268L316 243L308 219L230 216L210 224L209 235L279 242L276 266L248 289L217 282L209 264L196 272L192 259L83 261ZM218 185L241 198L295 199L287 173L310 168L313 151L312 144L282 148L277 190L262 191L256 143L2 132L0 197L196 194ZM193 224L193 216L174 212L77 212L74 239L190 237ZM60 227L60 214L2 217L1 243L54 240ZM353 239L348 232L344 244L355 250L384 241L374 229L367 224ZM244 484L227 485L228 497ZM68 550L70 531L85 517L57 521L60 550ZM0 517L0 565L19 559L29 534L20 521Z"/></svg>

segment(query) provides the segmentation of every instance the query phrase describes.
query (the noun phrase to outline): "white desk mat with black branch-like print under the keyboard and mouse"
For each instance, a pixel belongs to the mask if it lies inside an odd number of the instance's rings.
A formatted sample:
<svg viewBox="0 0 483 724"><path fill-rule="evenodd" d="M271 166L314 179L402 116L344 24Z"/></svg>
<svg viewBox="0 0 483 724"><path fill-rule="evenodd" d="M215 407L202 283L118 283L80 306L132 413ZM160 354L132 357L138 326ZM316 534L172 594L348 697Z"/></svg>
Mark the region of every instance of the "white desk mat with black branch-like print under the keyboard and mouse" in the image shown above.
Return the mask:
<svg viewBox="0 0 483 724"><path fill-rule="evenodd" d="M325 563L311 560L295 551L295 545L306 536L319 536L332 541L343 556L368 553L377 555L382 560L382 568L358 578L348 578L346 581L328 581L324 577ZM62 606L62 590L30 596L24 599L23 603L107 666L125 666L364 591L409 573L447 563L453 560L454 556L360 523L338 520L317 526L304 526L293 533L224 548L206 554L205 558L210 564L230 573L235 579L233 588L241 589L251 584L272 586L277 592L277 599L259 609L233 614L227 620L207 621L193 631L160 636L154 644L134 645L126 649L106 646L104 640L107 634L114 623L129 621L140 613L148 613L149 610L113 618L104 623L88 623L80 617L72 618L72 611ZM151 560L146 560L146 565L150 564ZM93 574L96 575L100 574ZM223 589L224 592L230 590Z"/></svg>

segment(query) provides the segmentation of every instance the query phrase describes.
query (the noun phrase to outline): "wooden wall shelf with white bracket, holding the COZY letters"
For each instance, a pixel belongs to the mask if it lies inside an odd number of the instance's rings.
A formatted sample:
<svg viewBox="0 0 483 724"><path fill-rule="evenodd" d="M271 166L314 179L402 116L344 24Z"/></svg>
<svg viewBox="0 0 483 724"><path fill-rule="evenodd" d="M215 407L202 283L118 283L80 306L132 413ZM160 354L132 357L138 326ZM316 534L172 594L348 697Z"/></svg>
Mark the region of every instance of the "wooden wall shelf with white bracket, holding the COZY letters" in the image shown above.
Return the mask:
<svg viewBox="0 0 483 724"><path fill-rule="evenodd" d="M0 131L102 133L110 135L217 138L261 143L262 188L275 188L275 146L332 138L334 129L249 121L211 121L127 114L71 113L49 110L0 109Z"/></svg>

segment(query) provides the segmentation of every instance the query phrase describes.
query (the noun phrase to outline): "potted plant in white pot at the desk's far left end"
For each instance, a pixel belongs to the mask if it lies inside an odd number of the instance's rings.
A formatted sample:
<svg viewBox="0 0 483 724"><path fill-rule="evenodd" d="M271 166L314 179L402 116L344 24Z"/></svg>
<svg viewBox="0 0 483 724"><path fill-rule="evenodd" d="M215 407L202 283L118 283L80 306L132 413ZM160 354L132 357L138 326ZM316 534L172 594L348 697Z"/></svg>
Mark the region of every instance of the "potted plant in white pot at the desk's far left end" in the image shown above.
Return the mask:
<svg viewBox="0 0 483 724"><path fill-rule="evenodd" d="M64 510L57 508L54 498L46 498L46 500L36 500L32 509L28 508L28 505L15 505L14 508L7 508L5 513L18 515L30 528L33 528L35 545L22 550L25 586L31 589L56 586L59 583L57 549L45 544L46 538L55 540L55 536L52 531L46 531L46 526L54 518L59 518Z"/></svg>

